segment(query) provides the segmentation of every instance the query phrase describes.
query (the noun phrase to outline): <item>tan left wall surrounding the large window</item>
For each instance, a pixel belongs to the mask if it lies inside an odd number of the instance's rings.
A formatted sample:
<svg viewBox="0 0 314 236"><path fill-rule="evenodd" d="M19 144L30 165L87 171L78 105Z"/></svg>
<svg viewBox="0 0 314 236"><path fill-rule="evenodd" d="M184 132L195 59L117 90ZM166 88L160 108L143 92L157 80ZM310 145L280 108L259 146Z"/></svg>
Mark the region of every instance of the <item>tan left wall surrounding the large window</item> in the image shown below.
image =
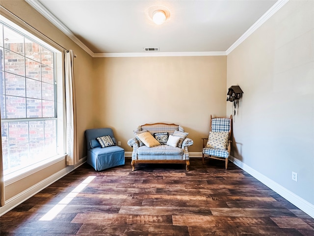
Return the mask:
<svg viewBox="0 0 314 236"><path fill-rule="evenodd" d="M78 115L78 144L79 144L79 158L86 155L86 144L84 141L84 131L87 128L93 127L93 118L90 116L92 114L92 84L90 83L90 78L92 75L92 57L90 57L85 51L83 51L76 43L74 43L68 36L62 33L59 29L54 27L46 18L34 10L30 5L24 0L1 0L0 4L13 12L15 15L22 18L28 24L30 24L35 29L38 29L58 44L62 45L67 49L74 50L77 55L75 59L74 74L76 78L76 91L81 94L77 98L77 115ZM35 30L26 26L25 23L21 22L16 17L7 13L5 10L0 8L0 13L7 19L18 24L22 28L32 32L37 37L43 39L45 42L51 44L56 49L63 52L63 49L46 39L44 36L37 33ZM64 74L64 73L63 73ZM8 200L15 195L23 192L27 188L39 183L47 177L59 172L66 168L65 160L56 163L49 168L39 171L29 177L21 179L20 181L14 182L10 185L5 186L5 200ZM68 169L68 168L67 168Z"/></svg>

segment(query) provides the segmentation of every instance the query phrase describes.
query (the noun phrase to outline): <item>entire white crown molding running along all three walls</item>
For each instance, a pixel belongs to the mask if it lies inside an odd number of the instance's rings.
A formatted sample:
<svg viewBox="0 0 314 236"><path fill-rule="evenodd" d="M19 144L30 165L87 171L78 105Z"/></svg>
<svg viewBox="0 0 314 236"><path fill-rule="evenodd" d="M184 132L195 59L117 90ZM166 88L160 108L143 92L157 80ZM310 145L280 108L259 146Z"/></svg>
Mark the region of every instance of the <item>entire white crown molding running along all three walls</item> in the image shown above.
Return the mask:
<svg viewBox="0 0 314 236"><path fill-rule="evenodd" d="M225 52L142 52L142 53L93 53L84 43L82 43L73 32L60 22L52 13L44 7L38 0L25 0L35 10L47 18L54 26L65 33L79 47L93 58L112 58L112 57L199 57L199 56L227 56L255 30L275 14L288 0L278 0L262 17L254 23L242 36L240 36Z"/></svg>

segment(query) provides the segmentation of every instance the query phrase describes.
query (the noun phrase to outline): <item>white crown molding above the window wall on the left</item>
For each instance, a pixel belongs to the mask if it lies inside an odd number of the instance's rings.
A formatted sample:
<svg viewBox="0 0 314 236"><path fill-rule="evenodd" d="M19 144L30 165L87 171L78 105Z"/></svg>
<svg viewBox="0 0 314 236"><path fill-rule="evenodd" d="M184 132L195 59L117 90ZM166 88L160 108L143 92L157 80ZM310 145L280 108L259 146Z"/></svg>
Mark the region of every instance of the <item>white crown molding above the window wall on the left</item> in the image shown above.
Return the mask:
<svg viewBox="0 0 314 236"><path fill-rule="evenodd" d="M75 42L79 47L81 47L90 56L94 56L94 53L80 41L73 32L67 28L61 21L59 21L52 13L43 6L38 0L25 0L29 5L31 5L36 11L42 14L47 20L49 20L55 27L60 29L65 33L73 42Z"/></svg>

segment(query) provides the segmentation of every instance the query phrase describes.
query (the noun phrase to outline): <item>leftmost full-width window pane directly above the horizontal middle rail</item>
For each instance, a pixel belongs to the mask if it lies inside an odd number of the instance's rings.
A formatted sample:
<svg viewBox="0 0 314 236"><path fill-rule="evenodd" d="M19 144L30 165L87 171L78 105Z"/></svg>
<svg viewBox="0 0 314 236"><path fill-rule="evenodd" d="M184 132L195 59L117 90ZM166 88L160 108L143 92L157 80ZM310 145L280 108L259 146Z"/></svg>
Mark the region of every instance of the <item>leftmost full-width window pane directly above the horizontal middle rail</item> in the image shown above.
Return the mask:
<svg viewBox="0 0 314 236"><path fill-rule="evenodd" d="M24 97L5 96L6 118L26 118L26 99Z"/></svg>

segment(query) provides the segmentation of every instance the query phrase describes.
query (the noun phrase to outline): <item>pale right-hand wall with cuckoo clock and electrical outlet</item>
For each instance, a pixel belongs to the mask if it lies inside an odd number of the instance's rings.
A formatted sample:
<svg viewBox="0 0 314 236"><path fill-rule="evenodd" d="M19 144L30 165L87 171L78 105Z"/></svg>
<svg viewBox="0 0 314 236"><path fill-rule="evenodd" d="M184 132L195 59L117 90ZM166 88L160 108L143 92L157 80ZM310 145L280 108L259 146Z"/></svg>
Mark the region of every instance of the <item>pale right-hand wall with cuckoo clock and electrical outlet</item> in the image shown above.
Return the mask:
<svg viewBox="0 0 314 236"><path fill-rule="evenodd" d="M227 57L227 87L244 91L234 118L233 155L311 204L313 9L314 1L288 1Z"/></svg>

